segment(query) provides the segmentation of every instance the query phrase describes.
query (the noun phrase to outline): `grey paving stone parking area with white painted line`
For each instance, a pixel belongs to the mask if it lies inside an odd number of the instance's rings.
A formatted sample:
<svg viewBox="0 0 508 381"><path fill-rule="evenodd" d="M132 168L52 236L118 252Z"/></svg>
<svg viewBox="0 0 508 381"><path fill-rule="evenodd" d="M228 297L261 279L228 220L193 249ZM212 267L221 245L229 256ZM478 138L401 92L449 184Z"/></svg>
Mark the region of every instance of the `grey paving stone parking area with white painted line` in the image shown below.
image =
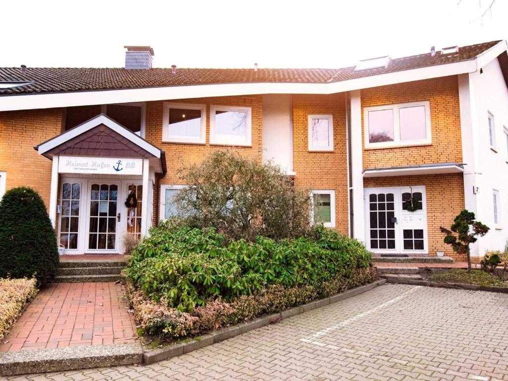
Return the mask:
<svg viewBox="0 0 508 381"><path fill-rule="evenodd" d="M508 380L507 322L507 294L389 284L153 365L9 379Z"/></svg>

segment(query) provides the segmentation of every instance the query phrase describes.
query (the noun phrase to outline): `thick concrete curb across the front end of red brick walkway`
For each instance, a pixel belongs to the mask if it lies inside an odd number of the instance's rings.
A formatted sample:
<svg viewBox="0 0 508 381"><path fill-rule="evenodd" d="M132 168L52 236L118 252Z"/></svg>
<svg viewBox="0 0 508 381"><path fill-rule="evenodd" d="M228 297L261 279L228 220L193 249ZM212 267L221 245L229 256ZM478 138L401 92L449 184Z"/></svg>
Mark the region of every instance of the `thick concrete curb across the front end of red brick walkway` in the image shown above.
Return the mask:
<svg viewBox="0 0 508 381"><path fill-rule="evenodd" d="M57 372L143 362L143 348L135 344L69 346L0 353L0 375Z"/></svg>

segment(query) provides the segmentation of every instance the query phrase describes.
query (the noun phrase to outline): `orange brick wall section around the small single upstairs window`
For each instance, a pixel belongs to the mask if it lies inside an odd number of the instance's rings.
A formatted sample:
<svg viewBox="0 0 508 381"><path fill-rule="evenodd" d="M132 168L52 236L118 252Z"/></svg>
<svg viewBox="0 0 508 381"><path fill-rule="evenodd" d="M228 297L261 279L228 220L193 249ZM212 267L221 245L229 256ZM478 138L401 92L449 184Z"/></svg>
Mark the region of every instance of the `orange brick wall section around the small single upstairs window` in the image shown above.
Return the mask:
<svg viewBox="0 0 508 381"><path fill-rule="evenodd" d="M308 150L308 115L333 115L333 152ZM293 96L295 185L335 190L335 227L348 233L347 157L344 94Z"/></svg>

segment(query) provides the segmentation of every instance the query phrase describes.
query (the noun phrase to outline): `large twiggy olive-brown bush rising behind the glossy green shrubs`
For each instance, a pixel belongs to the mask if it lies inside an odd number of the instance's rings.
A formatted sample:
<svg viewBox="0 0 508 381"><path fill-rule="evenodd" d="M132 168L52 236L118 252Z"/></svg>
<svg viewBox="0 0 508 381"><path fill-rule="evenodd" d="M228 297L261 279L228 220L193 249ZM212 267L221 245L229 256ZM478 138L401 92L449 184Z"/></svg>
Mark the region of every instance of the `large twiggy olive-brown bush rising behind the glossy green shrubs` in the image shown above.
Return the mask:
<svg viewBox="0 0 508 381"><path fill-rule="evenodd" d="M238 152L214 151L179 170L188 186L175 197L185 225L214 227L228 238L280 240L309 230L310 192L297 188L278 166Z"/></svg>

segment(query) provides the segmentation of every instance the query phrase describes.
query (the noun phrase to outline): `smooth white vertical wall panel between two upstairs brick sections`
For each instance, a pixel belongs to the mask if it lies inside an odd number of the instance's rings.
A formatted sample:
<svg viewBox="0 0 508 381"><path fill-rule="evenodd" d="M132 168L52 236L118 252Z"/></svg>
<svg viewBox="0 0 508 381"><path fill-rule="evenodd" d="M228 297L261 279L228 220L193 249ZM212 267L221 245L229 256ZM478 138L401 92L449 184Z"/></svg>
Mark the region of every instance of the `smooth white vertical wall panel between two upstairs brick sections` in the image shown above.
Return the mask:
<svg viewBox="0 0 508 381"><path fill-rule="evenodd" d="M293 173L293 101L291 94L263 96L263 161Z"/></svg>

